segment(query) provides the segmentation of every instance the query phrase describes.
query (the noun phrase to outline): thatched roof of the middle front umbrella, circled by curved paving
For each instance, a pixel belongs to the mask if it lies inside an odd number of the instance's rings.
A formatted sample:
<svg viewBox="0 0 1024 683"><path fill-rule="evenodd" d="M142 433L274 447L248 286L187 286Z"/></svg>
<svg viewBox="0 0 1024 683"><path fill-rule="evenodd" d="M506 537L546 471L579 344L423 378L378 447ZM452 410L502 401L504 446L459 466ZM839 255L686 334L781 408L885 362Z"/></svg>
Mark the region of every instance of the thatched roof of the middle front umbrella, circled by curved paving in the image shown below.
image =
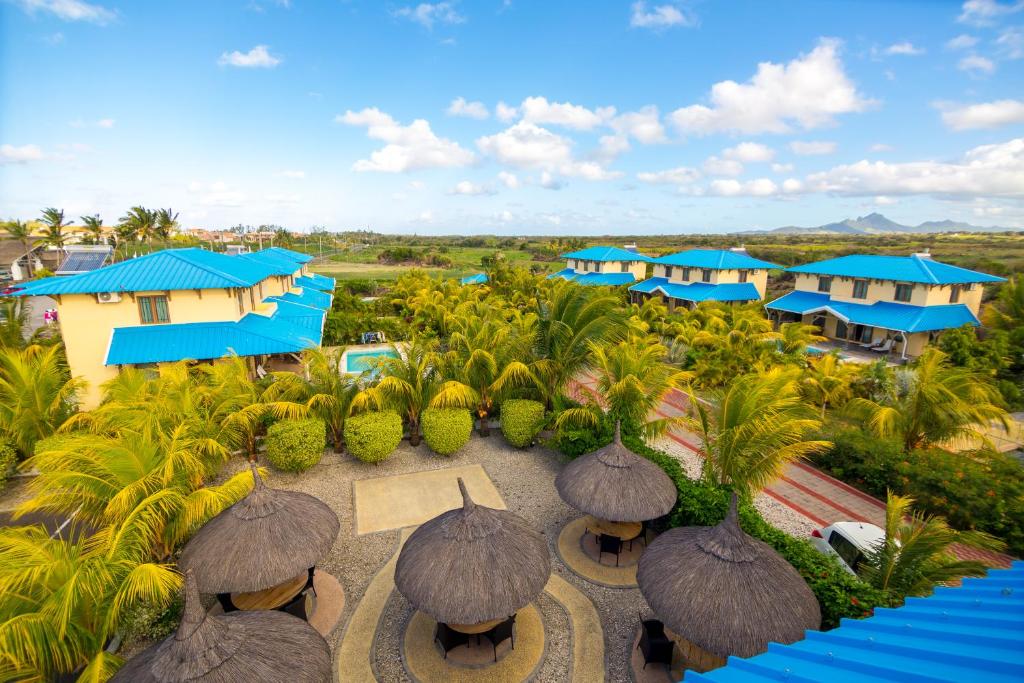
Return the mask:
<svg viewBox="0 0 1024 683"><path fill-rule="evenodd" d="M395 587L438 622L505 618L544 590L548 544L522 517L476 505L462 478L459 488L463 507L424 522L406 542Z"/></svg>

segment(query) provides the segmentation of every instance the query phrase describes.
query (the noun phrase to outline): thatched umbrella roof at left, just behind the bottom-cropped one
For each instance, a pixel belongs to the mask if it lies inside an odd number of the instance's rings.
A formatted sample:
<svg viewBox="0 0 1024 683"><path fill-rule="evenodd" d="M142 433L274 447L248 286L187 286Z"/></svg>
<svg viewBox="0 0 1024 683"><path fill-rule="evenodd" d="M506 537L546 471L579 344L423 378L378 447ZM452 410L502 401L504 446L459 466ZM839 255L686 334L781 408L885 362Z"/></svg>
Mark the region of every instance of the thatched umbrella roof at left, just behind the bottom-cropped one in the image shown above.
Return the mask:
<svg viewBox="0 0 1024 683"><path fill-rule="evenodd" d="M270 488L253 470L253 489L196 532L178 561L204 593L261 591L295 579L334 545L340 523L307 494Z"/></svg>

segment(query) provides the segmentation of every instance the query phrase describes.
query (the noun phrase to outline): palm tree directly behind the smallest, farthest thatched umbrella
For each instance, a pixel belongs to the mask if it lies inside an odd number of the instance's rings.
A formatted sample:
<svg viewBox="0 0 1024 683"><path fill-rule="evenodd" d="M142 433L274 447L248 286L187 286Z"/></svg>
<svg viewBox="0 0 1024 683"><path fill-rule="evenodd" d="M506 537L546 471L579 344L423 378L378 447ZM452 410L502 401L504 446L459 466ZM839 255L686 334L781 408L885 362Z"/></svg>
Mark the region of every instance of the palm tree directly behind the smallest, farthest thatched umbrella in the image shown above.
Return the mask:
<svg viewBox="0 0 1024 683"><path fill-rule="evenodd" d="M652 338L630 337L607 347L591 344L597 385L614 420L640 428L647 438L660 436L683 418L652 418L662 399L684 386L692 374L666 362L668 349ZM600 409L596 405L568 409L556 426L596 427Z"/></svg>

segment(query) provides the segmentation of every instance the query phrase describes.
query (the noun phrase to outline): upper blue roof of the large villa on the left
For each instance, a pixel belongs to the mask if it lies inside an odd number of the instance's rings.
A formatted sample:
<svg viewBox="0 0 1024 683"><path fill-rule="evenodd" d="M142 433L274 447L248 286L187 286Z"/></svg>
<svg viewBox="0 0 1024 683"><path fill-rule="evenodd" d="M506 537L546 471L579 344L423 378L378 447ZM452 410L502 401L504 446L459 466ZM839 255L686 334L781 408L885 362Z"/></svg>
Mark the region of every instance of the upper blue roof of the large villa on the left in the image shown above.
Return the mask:
<svg viewBox="0 0 1024 683"><path fill-rule="evenodd" d="M18 296L159 292L252 287L274 274L266 265L203 249L166 249L77 275L29 283Z"/></svg>

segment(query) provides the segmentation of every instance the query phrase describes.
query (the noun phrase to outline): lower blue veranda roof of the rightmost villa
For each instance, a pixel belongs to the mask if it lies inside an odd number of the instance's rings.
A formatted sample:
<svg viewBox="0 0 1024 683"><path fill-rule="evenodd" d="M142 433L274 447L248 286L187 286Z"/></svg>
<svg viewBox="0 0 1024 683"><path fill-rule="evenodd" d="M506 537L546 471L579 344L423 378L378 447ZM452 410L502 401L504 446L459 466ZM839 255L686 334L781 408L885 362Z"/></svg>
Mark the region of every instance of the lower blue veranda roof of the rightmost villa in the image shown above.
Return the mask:
<svg viewBox="0 0 1024 683"><path fill-rule="evenodd" d="M971 309L962 303L941 306L911 306L892 301L852 303L836 301L820 292L800 290L766 303L765 308L800 314L827 311L846 323L908 333L948 330L962 325L979 325Z"/></svg>

